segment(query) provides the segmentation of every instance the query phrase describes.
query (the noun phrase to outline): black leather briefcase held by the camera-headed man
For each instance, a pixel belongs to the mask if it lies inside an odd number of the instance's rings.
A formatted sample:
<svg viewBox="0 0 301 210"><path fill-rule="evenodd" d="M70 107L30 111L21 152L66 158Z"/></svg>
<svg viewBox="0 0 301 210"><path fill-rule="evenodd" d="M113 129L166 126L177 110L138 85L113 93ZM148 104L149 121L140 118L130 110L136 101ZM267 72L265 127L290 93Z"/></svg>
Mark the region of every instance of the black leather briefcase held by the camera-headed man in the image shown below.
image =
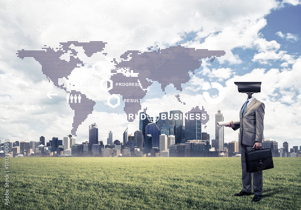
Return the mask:
<svg viewBox="0 0 301 210"><path fill-rule="evenodd" d="M262 171L274 168L272 152L270 148L257 149L248 151L246 155L247 172L253 173L256 171Z"/></svg>

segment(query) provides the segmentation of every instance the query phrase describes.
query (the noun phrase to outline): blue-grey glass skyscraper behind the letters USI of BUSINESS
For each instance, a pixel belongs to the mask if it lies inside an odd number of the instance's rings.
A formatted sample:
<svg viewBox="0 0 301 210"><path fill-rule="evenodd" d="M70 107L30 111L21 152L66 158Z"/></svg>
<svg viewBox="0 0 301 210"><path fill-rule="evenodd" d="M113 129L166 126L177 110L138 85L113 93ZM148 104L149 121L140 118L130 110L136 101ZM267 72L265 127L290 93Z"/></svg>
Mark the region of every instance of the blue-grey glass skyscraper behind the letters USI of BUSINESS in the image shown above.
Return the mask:
<svg viewBox="0 0 301 210"><path fill-rule="evenodd" d="M182 139L185 138L185 131L183 132L183 112L181 112L180 110L173 110L170 111L170 116L172 116L172 118L174 119L172 122L173 124L173 135L175 135L175 143L179 144L182 142ZM178 116L177 119L175 119L175 116ZM182 117L181 117L182 116Z"/></svg>

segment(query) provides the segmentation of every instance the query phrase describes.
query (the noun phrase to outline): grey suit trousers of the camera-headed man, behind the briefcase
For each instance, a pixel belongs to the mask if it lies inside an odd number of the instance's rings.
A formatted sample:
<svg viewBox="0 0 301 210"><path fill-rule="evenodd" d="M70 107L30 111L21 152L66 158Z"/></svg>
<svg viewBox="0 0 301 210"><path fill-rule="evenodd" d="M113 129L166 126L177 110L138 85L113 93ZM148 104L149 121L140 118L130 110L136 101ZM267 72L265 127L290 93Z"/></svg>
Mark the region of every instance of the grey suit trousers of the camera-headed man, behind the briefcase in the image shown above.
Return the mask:
<svg viewBox="0 0 301 210"><path fill-rule="evenodd" d="M245 152L251 151L253 146L241 144L241 167L242 167L242 182L244 192L252 193L252 176L253 176L253 192L255 195L262 195L262 171L254 173L247 172Z"/></svg>

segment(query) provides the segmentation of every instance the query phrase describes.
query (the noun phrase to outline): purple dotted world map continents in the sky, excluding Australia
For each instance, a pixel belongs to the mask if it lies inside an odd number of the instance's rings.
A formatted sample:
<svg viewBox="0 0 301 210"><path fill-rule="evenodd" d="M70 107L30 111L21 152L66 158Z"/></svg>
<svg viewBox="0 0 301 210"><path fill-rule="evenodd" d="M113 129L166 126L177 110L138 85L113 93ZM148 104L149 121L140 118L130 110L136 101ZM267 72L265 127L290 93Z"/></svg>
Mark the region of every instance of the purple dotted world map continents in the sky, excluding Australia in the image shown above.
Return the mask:
<svg viewBox="0 0 301 210"><path fill-rule="evenodd" d="M48 81L52 82L55 87L64 89L66 93L72 95L81 95L81 103L72 103L70 99L68 102L70 108L74 110L71 130L71 134L74 136L76 136L79 125L85 121L89 114L92 114L96 103L92 99L87 98L81 91L67 91L66 84L60 85L58 80L60 78L67 78L68 80L68 76L70 76L75 68L84 66L83 61L77 57L78 52L72 49L72 45L82 47L85 55L91 57L94 53L103 51L106 44L103 41L68 41L61 42L60 46L55 49L44 45L42 50L22 49L16 53L17 57L21 59L33 57L38 61L42 65L42 73L45 74ZM71 51L70 60L61 59L61 56L68 51ZM107 55L107 53L102 54L104 56ZM170 46L166 49L158 48L157 50L151 46L146 52L128 50L120 55L122 59L120 62L117 62L115 58L111 62L114 63L115 69L128 69L133 73L138 73L138 76L125 76L122 72L117 73L117 70L110 70L112 74L110 79L113 81L113 88L109 90L109 93L123 97L125 101L123 110L128 116L128 121L132 122L138 115L139 110L141 110L140 103L147 94L146 88L151 86L154 81L157 81L161 85L162 91L165 91L166 86L169 84L174 85L176 90L182 91L181 85L191 79L189 72L194 74L194 70L201 66L202 58L211 58L210 62L213 62L216 57L223 55L225 55L224 50L195 49L181 45ZM141 86L114 85L116 83L140 83ZM176 98L181 102L179 95L176 95ZM130 118L130 114L134 117Z"/></svg>

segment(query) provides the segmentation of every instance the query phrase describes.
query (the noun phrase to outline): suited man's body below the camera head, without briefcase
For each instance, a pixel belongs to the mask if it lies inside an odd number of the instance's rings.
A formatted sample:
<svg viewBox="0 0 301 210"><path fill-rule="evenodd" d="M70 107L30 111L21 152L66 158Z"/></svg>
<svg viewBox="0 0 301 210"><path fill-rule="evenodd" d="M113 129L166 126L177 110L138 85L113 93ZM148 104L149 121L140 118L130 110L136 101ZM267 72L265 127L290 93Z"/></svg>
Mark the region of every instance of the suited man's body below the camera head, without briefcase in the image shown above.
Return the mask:
<svg viewBox="0 0 301 210"><path fill-rule="evenodd" d="M255 194L252 201L258 202L262 199L262 171L248 173L246 169L245 152L251 151L254 147L261 148L263 136L263 117L265 105L255 97L247 98L247 101L240 109L240 124L233 125L230 121L226 127L234 131L239 128L241 142L241 167L243 189L235 196L252 194L252 174L253 192Z"/></svg>

